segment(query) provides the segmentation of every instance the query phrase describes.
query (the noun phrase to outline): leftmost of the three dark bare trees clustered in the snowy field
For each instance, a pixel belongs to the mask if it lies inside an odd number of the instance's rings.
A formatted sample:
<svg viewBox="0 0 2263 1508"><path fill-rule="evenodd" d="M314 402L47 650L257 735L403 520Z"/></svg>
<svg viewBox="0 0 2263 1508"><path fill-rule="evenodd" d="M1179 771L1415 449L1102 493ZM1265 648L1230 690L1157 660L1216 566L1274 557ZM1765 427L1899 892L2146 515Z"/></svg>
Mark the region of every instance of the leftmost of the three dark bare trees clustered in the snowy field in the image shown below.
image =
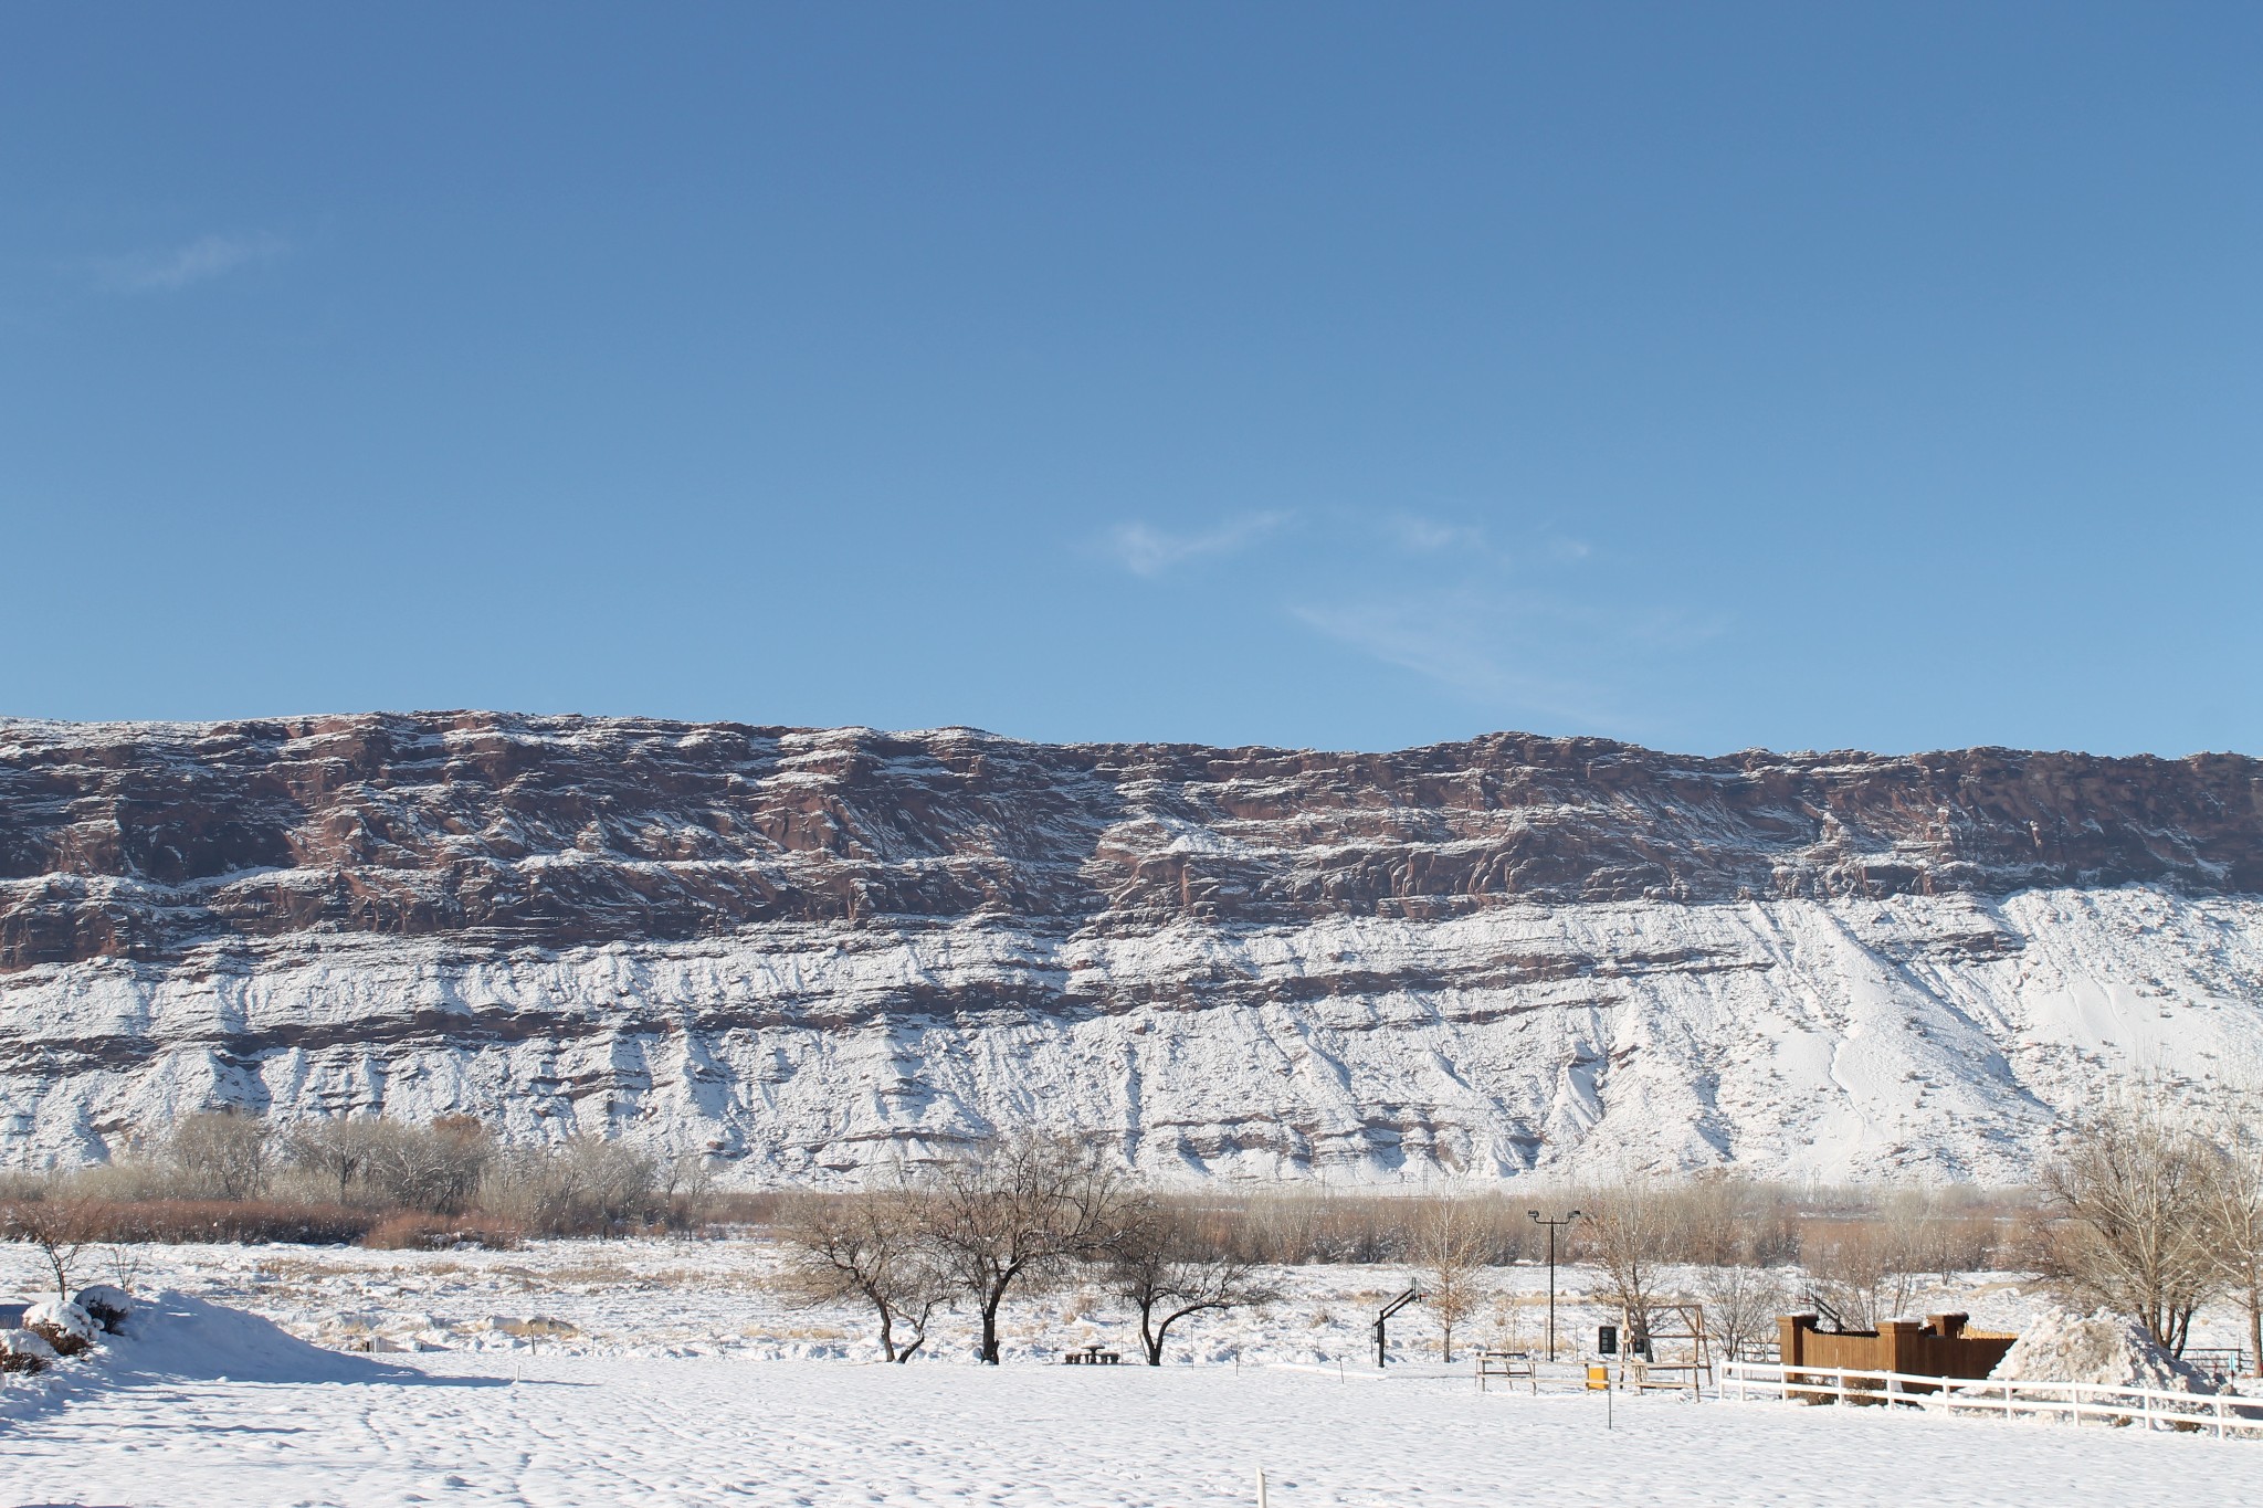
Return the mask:
<svg viewBox="0 0 2263 1508"><path fill-rule="evenodd" d="M928 1338L928 1316L944 1298L903 1189L803 1194L783 1221L788 1293L801 1305L862 1300L880 1320L880 1357L910 1361ZM907 1332L907 1338L898 1338Z"/></svg>

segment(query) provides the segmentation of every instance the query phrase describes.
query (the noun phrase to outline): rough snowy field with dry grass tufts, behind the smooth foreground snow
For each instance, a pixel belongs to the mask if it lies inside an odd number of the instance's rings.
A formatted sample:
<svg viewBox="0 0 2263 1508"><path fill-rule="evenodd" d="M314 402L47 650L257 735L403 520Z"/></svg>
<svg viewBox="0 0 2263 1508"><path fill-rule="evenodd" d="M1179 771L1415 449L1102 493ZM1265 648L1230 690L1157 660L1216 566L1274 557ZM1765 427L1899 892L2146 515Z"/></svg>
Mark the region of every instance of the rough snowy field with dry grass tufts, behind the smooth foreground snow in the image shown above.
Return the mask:
<svg viewBox="0 0 2263 1508"><path fill-rule="evenodd" d="M7 1253L9 1248L0 1248ZM387 1253L310 1246L136 1246L127 1268L106 1257L81 1268L84 1282L136 1291L179 1289L276 1320L333 1350L514 1352L543 1357L726 1357L740 1361L864 1361L878 1354L869 1311L799 1309L776 1286L778 1253L765 1241L534 1241L520 1250ZM29 1248L0 1266L23 1295L36 1295ZM1168 1361L1245 1366L1367 1366L1369 1320L1403 1291L1405 1266L1274 1268L1281 1298L1263 1309L1195 1316L1170 1334ZM1693 1289L1697 1271L1670 1271L1666 1289ZM1460 1343L1539 1347L1546 1338L1548 1268L1489 1268L1487 1300L1460 1329ZM1591 1268L1557 1275L1559 1343L1573 1354L1593 1343L1598 1323L1616 1320L1584 1298ZM1912 1311L1964 1311L1985 1329L2019 1329L2043 1302L2019 1273L1971 1273L1919 1295ZM964 1314L930 1327L928 1363L962 1363L971 1347ZM1392 1325L1392 1354L1437 1354L1435 1316L1417 1305ZM2238 1345L2238 1316L2204 1316L2200 1345ZM1129 1311L1098 1284L1070 1282L1014 1298L1005 1347L1016 1361L1057 1359L1073 1345L1136 1352Z"/></svg>

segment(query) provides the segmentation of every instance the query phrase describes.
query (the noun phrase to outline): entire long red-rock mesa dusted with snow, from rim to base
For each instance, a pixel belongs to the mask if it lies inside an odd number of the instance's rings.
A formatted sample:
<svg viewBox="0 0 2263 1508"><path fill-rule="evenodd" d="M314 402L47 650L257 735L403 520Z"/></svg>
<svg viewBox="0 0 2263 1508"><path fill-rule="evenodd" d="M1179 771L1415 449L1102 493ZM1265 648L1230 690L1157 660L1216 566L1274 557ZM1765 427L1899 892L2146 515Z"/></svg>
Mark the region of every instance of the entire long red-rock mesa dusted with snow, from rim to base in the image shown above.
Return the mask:
<svg viewBox="0 0 2263 1508"><path fill-rule="evenodd" d="M1000 1126L1165 1180L2019 1180L2134 1072L2263 1085L2229 755L0 733L0 1164L233 1103L749 1182Z"/></svg>

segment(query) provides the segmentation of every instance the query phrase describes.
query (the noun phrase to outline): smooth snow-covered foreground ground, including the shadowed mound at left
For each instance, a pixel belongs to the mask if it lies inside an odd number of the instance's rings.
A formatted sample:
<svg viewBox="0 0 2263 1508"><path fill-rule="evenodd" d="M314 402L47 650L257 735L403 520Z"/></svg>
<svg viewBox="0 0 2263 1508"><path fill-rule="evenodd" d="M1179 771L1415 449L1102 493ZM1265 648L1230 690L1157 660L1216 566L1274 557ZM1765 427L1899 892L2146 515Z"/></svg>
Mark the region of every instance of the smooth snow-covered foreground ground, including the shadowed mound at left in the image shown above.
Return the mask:
<svg viewBox="0 0 2263 1508"><path fill-rule="evenodd" d="M2263 1447L1333 1368L346 1357L181 1293L0 1404L11 1503L2234 1503Z"/></svg>

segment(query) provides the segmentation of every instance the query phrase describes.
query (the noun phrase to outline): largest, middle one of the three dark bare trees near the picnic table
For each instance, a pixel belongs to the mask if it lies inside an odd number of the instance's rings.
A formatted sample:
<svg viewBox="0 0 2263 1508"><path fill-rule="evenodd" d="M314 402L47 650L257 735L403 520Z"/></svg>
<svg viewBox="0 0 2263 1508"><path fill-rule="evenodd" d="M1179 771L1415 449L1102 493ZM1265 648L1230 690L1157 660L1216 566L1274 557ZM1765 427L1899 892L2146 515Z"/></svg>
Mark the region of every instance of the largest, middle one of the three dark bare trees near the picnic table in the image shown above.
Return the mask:
<svg viewBox="0 0 2263 1508"><path fill-rule="evenodd" d="M1125 1230L1125 1180L1089 1142L1018 1133L928 1169L928 1250L982 1320L978 1357L998 1363L998 1307L1016 1282L1100 1257Z"/></svg>

